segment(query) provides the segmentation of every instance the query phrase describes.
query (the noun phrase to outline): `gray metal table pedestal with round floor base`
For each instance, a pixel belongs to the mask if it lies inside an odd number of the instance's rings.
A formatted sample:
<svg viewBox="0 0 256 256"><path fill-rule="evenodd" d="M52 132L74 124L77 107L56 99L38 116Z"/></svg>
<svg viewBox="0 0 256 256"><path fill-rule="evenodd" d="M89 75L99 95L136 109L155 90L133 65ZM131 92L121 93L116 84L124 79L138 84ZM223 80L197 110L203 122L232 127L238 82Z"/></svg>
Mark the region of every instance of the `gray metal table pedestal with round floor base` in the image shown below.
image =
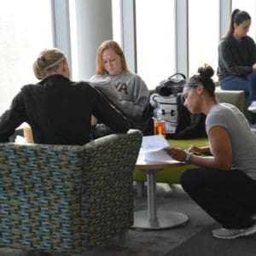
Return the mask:
<svg viewBox="0 0 256 256"><path fill-rule="evenodd" d="M133 229L163 230L184 224L188 216L181 212L158 211L156 206L155 173L160 170L143 170L147 174L148 211L134 212Z"/></svg>

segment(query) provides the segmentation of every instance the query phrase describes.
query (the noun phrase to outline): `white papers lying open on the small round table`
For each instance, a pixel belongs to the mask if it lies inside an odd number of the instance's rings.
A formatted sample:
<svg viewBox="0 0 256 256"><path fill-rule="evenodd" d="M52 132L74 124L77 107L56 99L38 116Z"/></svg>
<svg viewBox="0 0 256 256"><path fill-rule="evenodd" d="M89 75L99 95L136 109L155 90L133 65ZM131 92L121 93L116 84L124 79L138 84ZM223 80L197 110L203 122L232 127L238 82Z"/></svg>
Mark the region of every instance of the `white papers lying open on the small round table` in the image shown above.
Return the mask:
<svg viewBox="0 0 256 256"><path fill-rule="evenodd" d="M164 150L167 147L170 147L170 145L162 135L143 137L143 153L145 154L146 161L173 160Z"/></svg>

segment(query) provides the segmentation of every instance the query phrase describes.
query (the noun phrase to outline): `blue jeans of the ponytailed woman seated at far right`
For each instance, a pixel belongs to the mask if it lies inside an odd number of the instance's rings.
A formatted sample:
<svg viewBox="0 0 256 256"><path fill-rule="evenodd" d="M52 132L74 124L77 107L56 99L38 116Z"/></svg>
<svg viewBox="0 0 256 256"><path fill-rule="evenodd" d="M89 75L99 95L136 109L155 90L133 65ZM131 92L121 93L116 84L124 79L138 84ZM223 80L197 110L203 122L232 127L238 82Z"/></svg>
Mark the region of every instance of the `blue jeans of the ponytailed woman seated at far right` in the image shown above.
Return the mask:
<svg viewBox="0 0 256 256"><path fill-rule="evenodd" d="M256 72L252 72L247 77L229 76L220 83L222 90L244 90L247 97L247 106L256 101ZM256 113L249 113L249 121L256 124Z"/></svg>

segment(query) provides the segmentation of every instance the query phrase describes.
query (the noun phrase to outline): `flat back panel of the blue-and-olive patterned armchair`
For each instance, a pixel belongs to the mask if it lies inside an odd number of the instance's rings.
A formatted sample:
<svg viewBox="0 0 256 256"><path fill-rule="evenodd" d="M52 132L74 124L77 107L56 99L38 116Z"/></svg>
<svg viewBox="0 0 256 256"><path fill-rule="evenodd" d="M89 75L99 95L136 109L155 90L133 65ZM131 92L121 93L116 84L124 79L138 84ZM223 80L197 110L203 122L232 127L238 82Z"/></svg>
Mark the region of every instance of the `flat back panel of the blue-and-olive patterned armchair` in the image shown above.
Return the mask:
<svg viewBox="0 0 256 256"><path fill-rule="evenodd" d="M0 144L0 246L75 251L83 147Z"/></svg>

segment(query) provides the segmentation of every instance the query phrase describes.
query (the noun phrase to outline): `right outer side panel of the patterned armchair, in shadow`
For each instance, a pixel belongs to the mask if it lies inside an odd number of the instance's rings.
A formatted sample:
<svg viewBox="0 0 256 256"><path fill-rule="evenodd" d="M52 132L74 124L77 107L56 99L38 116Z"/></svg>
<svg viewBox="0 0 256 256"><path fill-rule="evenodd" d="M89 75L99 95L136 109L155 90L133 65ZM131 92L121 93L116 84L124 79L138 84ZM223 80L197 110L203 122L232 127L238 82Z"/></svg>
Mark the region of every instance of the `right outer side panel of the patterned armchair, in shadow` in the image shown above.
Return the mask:
<svg viewBox="0 0 256 256"><path fill-rule="evenodd" d="M85 145L82 193L82 247L101 244L133 224L132 170L142 143L142 133L110 135ZM84 183L84 181L83 181ZM88 206L90 205L90 207Z"/></svg>

